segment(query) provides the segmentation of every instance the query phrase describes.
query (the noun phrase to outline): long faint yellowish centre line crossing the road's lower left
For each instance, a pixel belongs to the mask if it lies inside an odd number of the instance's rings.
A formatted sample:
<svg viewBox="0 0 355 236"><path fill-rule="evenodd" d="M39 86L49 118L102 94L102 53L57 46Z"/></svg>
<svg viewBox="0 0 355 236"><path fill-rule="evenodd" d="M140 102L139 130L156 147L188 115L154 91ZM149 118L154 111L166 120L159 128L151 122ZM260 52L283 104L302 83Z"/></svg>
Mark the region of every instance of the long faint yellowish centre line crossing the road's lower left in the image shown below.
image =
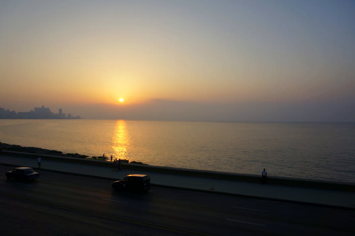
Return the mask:
<svg viewBox="0 0 355 236"><path fill-rule="evenodd" d="M195 232L195 231L190 231L190 230L185 230L185 229L175 228L175 227L170 227L170 226L165 226L165 225L154 224L154 223L150 223L147 221L140 221L140 220L130 219L130 218L121 217L121 216L115 216L115 215L106 214L103 212L95 212L95 211L91 211L91 210L87 210L87 209L76 208L74 206L66 206L66 205L56 204L56 203L52 203L52 202L37 200L37 199L33 199L33 198L18 196L18 195L14 195L14 194L0 192L0 196L5 196L5 197L12 198L12 199L17 199L17 200L22 200L22 201L27 201L27 202L35 202L35 203L48 205L48 206L54 206L54 207L58 207L58 208L62 208L62 209L67 209L67 210L71 210L71 211L75 211L75 212L81 212L81 213L99 216L99 217L103 217L103 218L107 218L107 219L117 220L117 221L121 221L121 222L127 222L127 223L131 223L131 224L136 224L136 225L147 226L150 228L161 229L161 230L166 230L166 231L170 231L170 232L177 232L177 233L184 234L184 235L213 236L210 234L205 234L205 233L200 233L200 232Z"/></svg>

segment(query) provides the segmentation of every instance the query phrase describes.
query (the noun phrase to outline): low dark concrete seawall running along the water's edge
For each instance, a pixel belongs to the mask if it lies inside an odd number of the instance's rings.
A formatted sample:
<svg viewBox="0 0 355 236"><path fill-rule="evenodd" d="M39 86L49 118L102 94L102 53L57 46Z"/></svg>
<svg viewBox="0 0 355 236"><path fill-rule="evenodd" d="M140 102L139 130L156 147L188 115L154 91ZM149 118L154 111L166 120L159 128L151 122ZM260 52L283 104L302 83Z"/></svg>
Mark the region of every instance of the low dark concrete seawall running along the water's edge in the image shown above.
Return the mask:
<svg viewBox="0 0 355 236"><path fill-rule="evenodd" d="M61 157L61 156L15 152L15 151L7 151L7 150L0 151L0 155L21 156L21 157L32 158L32 159L41 157L43 160L53 160L53 161L60 161L60 162L67 162L67 163L113 168L113 164L111 162L82 159L82 158ZM34 162L35 161L36 160L34 160ZM253 182L253 183L260 183L261 181L261 176L259 175L236 174L236 173L209 171L209 170L180 169L180 168L157 167L157 166L150 166L150 165L126 164L126 163L122 163L122 168L129 169L129 170L151 171L157 173L169 173L169 174L177 174L177 175L184 175L184 176L205 177L205 178L244 181L244 182ZM355 192L355 183L353 184L353 183L345 183L345 182L331 182L331 181L319 181L319 180L269 176L268 184Z"/></svg>

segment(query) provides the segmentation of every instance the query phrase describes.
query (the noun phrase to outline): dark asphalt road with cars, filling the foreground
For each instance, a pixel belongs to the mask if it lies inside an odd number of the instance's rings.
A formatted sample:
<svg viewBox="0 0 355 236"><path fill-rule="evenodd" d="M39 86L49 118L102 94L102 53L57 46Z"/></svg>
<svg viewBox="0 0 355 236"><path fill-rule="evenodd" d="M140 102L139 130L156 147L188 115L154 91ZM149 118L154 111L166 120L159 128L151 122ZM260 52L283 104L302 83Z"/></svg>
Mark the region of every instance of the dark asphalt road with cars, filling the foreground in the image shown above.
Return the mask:
<svg viewBox="0 0 355 236"><path fill-rule="evenodd" d="M8 181L0 166L1 236L355 235L355 211L152 187L39 171Z"/></svg>

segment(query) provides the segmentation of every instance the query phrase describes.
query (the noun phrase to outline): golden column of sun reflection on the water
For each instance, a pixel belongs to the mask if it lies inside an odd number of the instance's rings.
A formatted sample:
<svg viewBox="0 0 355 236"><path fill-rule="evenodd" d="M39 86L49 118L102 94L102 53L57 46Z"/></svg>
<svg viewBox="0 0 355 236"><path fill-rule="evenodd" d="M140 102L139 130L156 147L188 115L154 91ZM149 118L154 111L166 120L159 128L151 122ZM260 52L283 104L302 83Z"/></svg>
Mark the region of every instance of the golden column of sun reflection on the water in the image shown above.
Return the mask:
<svg viewBox="0 0 355 236"><path fill-rule="evenodd" d="M112 137L113 158L129 160L129 145L130 136L127 131L127 123L125 120L117 120L115 132Z"/></svg>

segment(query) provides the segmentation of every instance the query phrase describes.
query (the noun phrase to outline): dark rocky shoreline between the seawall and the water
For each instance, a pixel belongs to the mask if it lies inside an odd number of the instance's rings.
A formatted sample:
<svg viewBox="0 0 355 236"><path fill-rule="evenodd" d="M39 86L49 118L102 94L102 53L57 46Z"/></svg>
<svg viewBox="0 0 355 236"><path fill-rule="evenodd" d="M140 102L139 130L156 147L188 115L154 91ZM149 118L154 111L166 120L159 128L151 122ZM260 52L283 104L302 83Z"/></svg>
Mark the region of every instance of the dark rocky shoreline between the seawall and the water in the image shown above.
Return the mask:
<svg viewBox="0 0 355 236"><path fill-rule="evenodd" d="M107 161L107 157L89 157L87 155L81 155L78 153L63 153L61 151L57 150L49 150L49 149L44 149L40 147L23 147L20 145L15 145L15 144L7 144L0 142L0 151L1 150L9 150L9 151L16 151L16 152L28 152L28 153L36 153L36 154L45 154L45 155L53 155L53 156L62 156L62 157L75 157L75 158L91 158L95 160L104 160ZM131 163L131 164L141 164L141 165L147 165L142 162L136 162L132 161L129 162L129 160L121 160L122 163Z"/></svg>

